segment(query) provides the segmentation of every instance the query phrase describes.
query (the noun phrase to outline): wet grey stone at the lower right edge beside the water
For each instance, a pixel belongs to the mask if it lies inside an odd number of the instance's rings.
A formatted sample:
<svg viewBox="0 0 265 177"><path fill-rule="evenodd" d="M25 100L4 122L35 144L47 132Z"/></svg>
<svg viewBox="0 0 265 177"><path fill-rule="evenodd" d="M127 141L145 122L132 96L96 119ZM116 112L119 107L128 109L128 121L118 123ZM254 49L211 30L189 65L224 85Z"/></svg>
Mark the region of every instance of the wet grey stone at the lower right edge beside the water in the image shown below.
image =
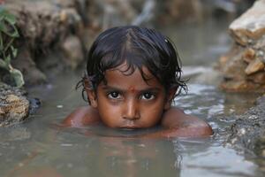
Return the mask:
<svg viewBox="0 0 265 177"><path fill-rule="evenodd" d="M265 158L265 96L257 100L256 106L243 115L239 115L231 131L227 144L246 155ZM265 164L264 164L265 166Z"/></svg>

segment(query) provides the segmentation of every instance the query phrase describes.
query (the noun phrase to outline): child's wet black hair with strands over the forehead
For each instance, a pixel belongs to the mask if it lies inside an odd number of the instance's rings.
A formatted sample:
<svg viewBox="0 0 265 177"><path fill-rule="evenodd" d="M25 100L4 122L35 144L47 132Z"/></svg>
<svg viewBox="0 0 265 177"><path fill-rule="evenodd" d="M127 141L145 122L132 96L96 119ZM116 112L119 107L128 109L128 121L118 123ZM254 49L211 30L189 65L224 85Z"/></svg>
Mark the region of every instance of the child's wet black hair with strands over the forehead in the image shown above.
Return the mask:
<svg viewBox="0 0 265 177"><path fill-rule="evenodd" d="M139 69L148 83L149 78L142 70L147 67L166 91L177 89L175 96L182 89L187 90L186 81L181 78L178 52L170 39L155 29L136 26L112 27L95 39L87 55L87 75L77 87L84 86L83 93L85 89L96 91L102 81L106 83L105 71L124 63L128 68L122 72L132 74Z"/></svg>

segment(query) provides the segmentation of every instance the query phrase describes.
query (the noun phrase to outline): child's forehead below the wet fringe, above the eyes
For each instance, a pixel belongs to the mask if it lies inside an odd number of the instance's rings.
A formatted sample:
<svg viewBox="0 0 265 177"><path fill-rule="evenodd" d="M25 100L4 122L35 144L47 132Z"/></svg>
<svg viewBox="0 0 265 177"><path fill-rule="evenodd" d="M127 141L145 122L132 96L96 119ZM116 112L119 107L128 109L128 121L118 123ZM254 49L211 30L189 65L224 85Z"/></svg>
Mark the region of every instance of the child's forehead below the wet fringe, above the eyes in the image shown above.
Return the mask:
<svg viewBox="0 0 265 177"><path fill-rule="evenodd" d="M105 72L107 85L121 89L163 89L162 84L148 71L147 67L143 66L141 70L147 81L144 80L138 68L134 71L131 68L128 70L128 65L126 64L107 70Z"/></svg>

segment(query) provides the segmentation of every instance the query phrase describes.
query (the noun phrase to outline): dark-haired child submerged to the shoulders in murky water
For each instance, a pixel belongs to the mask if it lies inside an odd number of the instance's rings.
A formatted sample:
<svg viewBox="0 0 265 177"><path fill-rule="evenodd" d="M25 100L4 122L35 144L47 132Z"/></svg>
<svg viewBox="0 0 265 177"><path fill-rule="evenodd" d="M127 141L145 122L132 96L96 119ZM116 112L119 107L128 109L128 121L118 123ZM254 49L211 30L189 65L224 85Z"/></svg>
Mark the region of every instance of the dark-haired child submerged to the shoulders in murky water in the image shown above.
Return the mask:
<svg viewBox="0 0 265 177"><path fill-rule="evenodd" d="M90 106L72 112L64 125L103 123L113 128L161 131L144 137L207 136L208 124L171 106L186 90L178 53L164 35L146 27L113 27L93 43L81 81Z"/></svg>

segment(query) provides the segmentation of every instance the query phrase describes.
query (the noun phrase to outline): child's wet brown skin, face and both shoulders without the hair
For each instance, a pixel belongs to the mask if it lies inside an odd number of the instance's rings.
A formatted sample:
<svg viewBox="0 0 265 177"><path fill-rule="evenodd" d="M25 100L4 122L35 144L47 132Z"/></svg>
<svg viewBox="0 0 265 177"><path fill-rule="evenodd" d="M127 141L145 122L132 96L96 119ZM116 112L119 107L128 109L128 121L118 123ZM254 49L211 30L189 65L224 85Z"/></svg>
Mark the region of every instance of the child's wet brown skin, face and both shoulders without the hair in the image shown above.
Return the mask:
<svg viewBox="0 0 265 177"><path fill-rule="evenodd" d="M81 107L72 112L64 125L83 127L102 122L113 128L148 128L161 124L164 129L142 137L176 137L212 135L208 124L196 117L186 115L178 108L171 107L176 89L166 93L163 85L143 67L148 77L144 81L140 71L132 74L127 65L120 65L105 72L106 84L101 82L96 89L87 90L91 106Z"/></svg>

